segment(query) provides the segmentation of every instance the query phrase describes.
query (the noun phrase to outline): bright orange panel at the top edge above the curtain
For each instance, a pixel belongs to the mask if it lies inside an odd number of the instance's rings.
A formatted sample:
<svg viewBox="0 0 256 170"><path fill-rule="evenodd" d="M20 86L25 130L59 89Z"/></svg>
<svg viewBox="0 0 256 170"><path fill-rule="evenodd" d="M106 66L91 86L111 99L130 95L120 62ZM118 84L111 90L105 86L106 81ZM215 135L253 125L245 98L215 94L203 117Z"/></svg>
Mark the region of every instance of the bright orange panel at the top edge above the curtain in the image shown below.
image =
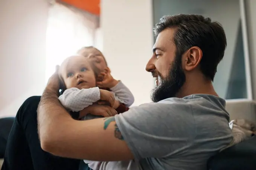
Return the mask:
<svg viewBox="0 0 256 170"><path fill-rule="evenodd" d="M90 12L94 15L100 14L100 0L60 0L61 2L75 6L76 8Z"/></svg>

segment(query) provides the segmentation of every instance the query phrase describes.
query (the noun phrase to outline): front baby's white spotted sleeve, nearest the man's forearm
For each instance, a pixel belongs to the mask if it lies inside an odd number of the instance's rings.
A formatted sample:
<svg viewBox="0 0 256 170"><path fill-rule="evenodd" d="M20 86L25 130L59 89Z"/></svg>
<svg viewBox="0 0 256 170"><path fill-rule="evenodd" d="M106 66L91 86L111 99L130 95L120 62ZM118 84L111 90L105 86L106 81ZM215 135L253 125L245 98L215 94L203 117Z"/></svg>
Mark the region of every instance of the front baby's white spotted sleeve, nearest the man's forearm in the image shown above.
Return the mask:
<svg viewBox="0 0 256 170"><path fill-rule="evenodd" d="M82 90L78 88L69 88L59 96L61 104L73 112L81 111L100 99L101 94L98 87L88 89L83 88Z"/></svg>

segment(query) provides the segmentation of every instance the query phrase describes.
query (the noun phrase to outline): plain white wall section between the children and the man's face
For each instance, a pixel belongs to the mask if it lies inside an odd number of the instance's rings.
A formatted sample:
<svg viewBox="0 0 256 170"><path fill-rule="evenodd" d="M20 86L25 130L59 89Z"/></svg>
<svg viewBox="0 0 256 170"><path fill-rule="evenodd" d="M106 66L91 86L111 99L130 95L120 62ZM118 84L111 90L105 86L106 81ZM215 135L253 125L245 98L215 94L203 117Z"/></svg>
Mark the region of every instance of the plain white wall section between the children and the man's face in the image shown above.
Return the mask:
<svg viewBox="0 0 256 170"><path fill-rule="evenodd" d="M102 48L113 77L135 97L134 105L151 102L154 80L145 66L152 55L151 0L102 0Z"/></svg>

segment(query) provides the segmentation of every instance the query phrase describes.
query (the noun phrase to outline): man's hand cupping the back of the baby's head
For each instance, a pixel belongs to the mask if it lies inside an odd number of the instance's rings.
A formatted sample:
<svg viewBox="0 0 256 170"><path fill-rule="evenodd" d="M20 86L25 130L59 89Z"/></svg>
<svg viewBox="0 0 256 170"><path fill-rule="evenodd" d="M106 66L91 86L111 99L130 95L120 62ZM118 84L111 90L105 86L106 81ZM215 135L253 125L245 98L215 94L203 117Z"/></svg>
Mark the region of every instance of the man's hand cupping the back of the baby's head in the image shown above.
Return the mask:
<svg viewBox="0 0 256 170"><path fill-rule="evenodd" d="M55 73L49 78L46 90L50 90L56 94L59 93L59 65L56 65Z"/></svg>

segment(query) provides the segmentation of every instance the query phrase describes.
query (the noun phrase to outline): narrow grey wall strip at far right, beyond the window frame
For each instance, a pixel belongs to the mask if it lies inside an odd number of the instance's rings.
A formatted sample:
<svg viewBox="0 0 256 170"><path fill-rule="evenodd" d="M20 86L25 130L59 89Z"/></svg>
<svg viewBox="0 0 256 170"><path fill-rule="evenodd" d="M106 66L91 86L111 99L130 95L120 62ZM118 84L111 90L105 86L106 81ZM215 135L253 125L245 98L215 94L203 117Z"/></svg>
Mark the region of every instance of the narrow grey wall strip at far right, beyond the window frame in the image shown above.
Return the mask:
<svg viewBox="0 0 256 170"><path fill-rule="evenodd" d="M245 0L253 99L256 99L256 1Z"/></svg>

